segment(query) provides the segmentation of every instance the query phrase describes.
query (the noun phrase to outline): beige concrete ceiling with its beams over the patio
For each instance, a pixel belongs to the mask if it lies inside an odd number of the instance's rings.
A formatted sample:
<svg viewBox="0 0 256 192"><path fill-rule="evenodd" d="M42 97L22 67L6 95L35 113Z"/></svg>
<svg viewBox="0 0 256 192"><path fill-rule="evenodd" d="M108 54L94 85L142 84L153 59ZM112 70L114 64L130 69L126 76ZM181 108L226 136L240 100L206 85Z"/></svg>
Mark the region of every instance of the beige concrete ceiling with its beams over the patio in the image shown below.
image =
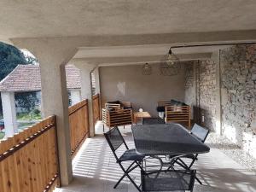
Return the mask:
<svg viewBox="0 0 256 192"><path fill-rule="evenodd" d="M255 41L255 10L255 0L1 0L0 41L68 38L79 44L73 60L155 62L173 44ZM194 60L216 49L172 51Z"/></svg>

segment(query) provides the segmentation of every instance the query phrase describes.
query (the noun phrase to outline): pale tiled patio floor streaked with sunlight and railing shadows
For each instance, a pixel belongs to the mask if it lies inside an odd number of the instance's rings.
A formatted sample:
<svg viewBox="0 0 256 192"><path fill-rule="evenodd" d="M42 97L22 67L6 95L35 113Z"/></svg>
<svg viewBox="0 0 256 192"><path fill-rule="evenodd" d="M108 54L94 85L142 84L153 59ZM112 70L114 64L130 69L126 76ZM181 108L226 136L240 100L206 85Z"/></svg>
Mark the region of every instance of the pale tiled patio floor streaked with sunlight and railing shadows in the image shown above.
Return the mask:
<svg viewBox="0 0 256 192"><path fill-rule="evenodd" d="M96 132L100 133L102 128ZM120 128L128 145L133 146L131 128ZM121 148L120 148L121 150ZM237 164L217 148L208 154L201 154L194 166L203 185L195 183L194 191L201 192L253 192L256 191L255 172ZM73 160L73 182L58 192L136 192L137 189L127 180L113 189L122 172L115 163L108 143L102 135L87 139L79 154ZM140 183L139 170L132 172Z"/></svg>

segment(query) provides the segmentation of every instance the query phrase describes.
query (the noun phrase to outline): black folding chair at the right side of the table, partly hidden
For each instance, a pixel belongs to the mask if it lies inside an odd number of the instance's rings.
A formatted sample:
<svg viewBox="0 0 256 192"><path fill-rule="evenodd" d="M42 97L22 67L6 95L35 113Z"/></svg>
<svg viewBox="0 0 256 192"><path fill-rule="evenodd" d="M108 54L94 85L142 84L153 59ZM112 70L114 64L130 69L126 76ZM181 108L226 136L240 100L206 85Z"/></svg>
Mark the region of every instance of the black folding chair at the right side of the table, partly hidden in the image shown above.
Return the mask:
<svg viewBox="0 0 256 192"><path fill-rule="evenodd" d="M194 137L196 137L198 140L201 141L201 143L205 143L206 139L207 139L207 136L209 134L209 130L207 130L206 128L200 126L200 125L197 125L195 124L191 130L191 135L193 135ZM177 158L173 164L177 164L179 166L182 166L184 169L186 170L190 170L191 167L194 165L195 163L195 160L198 160L198 154L188 154L188 155L185 155L183 156L182 158ZM191 159L191 163L189 164L189 166L182 160L183 158L189 158ZM195 179L201 183L201 181L195 177ZM202 184L202 183L201 183Z"/></svg>

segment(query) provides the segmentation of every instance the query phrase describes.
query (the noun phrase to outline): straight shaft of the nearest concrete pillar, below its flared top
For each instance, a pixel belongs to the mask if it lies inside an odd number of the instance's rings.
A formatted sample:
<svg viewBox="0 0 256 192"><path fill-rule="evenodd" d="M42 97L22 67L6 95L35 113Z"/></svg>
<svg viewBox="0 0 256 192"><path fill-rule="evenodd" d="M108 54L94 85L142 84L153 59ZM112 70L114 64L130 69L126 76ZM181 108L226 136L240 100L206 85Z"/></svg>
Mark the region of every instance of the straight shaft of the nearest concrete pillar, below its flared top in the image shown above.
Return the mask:
<svg viewBox="0 0 256 192"><path fill-rule="evenodd" d="M61 183L71 182L72 158L70 148L70 131L68 122L68 96L65 67L40 62L42 82L42 112L44 118L56 115Z"/></svg>

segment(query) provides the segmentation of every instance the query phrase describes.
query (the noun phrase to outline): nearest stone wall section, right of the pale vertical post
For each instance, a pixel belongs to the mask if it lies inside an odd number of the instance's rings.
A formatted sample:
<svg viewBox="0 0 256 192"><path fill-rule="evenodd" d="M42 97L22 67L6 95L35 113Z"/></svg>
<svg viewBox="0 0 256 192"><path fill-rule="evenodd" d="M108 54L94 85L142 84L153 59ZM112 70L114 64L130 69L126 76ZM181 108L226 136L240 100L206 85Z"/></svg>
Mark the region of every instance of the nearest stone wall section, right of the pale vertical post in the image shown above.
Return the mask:
<svg viewBox="0 0 256 192"><path fill-rule="evenodd" d="M256 157L256 45L220 51L223 133Z"/></svg>

